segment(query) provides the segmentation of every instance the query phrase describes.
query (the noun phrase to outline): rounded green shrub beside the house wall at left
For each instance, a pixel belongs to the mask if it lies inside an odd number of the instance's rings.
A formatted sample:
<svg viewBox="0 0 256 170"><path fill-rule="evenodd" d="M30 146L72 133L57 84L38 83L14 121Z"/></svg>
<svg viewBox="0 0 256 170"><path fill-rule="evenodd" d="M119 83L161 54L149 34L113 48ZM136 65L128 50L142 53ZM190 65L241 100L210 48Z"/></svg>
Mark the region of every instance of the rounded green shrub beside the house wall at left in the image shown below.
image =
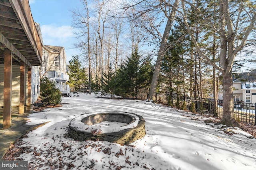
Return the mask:
<svg viewBox="0 0 256 170"><path fill-rule="evenodd" d="M61 102L61 92L54 81L45 77L41 79L40 98L46 106L56 106Z"/></svg>

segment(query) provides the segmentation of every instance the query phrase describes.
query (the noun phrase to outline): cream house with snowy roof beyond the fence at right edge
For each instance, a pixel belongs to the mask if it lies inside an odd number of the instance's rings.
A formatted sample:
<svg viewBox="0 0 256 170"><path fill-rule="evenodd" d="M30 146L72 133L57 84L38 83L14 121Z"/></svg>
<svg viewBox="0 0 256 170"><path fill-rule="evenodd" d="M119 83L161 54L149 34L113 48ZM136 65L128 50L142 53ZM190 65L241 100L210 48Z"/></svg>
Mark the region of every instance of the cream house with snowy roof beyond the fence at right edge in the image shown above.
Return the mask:
<svg viewBox="0 0 256 170"><path fill-rule="evenodd" d="M233 81L234 100L246 103L256 103L256 70L243 73Z"/></svg>

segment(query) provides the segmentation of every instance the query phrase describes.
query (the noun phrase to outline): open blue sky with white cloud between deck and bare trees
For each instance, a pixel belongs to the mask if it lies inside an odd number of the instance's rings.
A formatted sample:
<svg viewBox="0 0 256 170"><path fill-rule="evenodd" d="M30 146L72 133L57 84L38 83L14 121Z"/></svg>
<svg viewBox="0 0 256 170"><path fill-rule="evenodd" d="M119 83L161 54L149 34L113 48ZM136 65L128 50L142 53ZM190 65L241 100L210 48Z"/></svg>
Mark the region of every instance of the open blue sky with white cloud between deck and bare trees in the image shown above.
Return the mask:
<svg viewBox="0 0 256 170"><path fill-rule="evenodd" d="M44 45L65 48L67 62L79 51L72 49L76 41L71 29L71 12L80 0L29 0L34 21L40 23Z"/></svg>

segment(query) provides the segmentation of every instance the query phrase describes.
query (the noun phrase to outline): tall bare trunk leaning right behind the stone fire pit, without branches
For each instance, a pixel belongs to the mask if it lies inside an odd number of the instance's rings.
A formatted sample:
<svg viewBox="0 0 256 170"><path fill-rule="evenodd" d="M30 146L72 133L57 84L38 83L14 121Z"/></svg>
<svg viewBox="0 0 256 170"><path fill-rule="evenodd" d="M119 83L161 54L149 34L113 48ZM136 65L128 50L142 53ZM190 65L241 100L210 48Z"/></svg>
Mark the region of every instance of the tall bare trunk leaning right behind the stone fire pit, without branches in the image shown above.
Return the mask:
<svg viewBox="0 0 256 170"><path fill-rule="evenodd" d="M158 51L158 55L157 55L157 59L156 59L156 65L155 65L155 70L154 70L154 74L152 77L152 82L151 82L151 86L150 86L150 91L148 94L148 102L150 101L155 101L155 97L156 97L156 87L157 87L157 83L158 83L158 78L159 78L159 74L161 71L161 64L162 64L162 59L164 58L164 53L166 51L166 46L167 46L167 40L170 34L170 30L172 28L172 24L174 22L174 17L176 14L176 9L178 6L180 0L175 0L174 2L174 6L172 8L172 11L170 13L170 16L168 17L168 21L166 23L165 29L164 29L164 34L162 36L162 41L160 44L160 48Z"/></svg>

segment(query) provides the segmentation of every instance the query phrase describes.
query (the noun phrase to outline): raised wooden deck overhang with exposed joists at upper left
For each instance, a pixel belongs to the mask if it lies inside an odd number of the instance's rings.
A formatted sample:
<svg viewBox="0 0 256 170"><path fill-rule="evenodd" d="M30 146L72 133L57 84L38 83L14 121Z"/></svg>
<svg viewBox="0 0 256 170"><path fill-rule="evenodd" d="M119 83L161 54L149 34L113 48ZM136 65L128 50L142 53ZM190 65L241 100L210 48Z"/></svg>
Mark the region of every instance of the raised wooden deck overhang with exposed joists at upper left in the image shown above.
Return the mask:
<svg viewBox="0 0 256 170"><path fill-rule="evenodd" d="M42 63L42 42L28 0L0 0L0 64L4 49L13 53L14 63L30 68Z"/></svg>

